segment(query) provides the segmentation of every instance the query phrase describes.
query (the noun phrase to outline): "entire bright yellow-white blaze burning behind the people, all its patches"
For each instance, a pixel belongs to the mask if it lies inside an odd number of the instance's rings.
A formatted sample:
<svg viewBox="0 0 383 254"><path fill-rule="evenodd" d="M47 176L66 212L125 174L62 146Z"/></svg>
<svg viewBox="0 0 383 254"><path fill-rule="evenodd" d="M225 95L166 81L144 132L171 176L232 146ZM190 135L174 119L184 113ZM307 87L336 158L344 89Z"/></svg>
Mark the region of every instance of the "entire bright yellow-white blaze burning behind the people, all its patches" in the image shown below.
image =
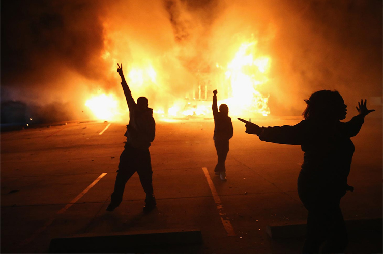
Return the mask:
<svg viewBox="0 0 383 254"><path fill-rule="evenodd" d="M227 104L231 116L269 115L268 96L261 94L258 88L269 80L267 74L271 60L268 56L257 55L256 46L256 40L243 42L232 60L223 65L216 63L214 70L211 69L212 71L205 72L196 79L197 84L186 87L189 92L184 98L174 99L169 96L162 98L162 103L157 100L154 113L161 119L190 116L211 118L212 91L218 89L218 105ZM143 67L132 65L124 73L135 99L148 89L164 91L165 85L158 78L159 72L152 63ZM150 102L151 98L148 99ZM100 120L119 120L127 110L125 100L120 103L112 94L93 96L85 105Z"/></svg>

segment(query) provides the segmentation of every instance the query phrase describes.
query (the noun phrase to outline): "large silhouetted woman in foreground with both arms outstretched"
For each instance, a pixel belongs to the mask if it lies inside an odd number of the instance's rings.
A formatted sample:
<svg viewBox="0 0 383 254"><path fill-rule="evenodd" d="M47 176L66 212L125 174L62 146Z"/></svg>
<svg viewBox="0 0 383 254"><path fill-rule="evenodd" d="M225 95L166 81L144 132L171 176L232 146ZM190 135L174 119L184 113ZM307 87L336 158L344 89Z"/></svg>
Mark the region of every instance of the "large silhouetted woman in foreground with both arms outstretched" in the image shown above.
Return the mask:
<svg viewBox="0 0 383 254"><path fill-rule="evenodd" d="M246 133L266 142L301 145L304 156L298 194L308 210L302 252L344 253L348 237L339 203L347 190L353 191L347 184L355 150L350 137L358 134L364 117L374 110L368 110L362 100L359 115L340 122L346 118L347 106L338 91L317 91L305 102L305 120L297 125L264 128L247 123Z"/></svg>

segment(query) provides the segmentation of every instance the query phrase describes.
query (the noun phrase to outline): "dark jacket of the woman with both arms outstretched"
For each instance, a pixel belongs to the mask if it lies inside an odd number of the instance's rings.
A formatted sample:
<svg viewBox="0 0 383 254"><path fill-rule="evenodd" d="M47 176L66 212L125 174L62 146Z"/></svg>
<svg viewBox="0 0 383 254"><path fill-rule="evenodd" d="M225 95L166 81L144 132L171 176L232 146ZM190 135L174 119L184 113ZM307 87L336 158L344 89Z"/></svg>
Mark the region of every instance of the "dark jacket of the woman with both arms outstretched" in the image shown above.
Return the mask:
<svg viewBox="0 0 383 254"><path fill-rule="evenodd" d="M358 134L363 123L360 115L349 122L303 120L294 126L262 127L259 139L301 145L304 152L301 177L312 186L343 196L350 187L347 177L355 151L350 137Z"/></svg>

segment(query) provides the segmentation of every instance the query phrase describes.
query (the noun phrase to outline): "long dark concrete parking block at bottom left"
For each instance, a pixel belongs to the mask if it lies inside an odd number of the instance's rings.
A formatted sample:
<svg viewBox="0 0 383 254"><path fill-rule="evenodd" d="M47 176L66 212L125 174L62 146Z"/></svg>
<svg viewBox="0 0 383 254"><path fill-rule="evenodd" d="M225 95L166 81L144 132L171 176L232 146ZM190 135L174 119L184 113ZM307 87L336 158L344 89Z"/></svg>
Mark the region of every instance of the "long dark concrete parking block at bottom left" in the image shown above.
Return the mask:
<svg viewBox="0 0 383 254"><path fill-rule="evenodd" d="M119 232L107 235L81 234L54 238L49 245L50 253L134 253L164 252L175 247L178 252L202 243L200 230L153 230ZM178 246L178 247L177 247ZM168 250L168 251L167 251Z"/></svg>

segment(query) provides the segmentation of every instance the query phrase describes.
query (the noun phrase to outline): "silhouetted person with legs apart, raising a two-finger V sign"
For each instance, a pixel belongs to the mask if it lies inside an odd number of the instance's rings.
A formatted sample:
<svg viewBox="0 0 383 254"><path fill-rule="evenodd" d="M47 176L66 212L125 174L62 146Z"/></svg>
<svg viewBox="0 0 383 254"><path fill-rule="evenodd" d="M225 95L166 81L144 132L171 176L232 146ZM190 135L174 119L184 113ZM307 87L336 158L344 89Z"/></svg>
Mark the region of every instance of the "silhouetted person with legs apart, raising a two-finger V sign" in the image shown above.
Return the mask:
<svg viewBox="0 0 383 254"><path fill-rule="evenodd" d="M129 178L137 171L143 190L146 193L144 212L153 210L156 207L156 199L152 185L152 164L150 159L149 146L154 140L156 123L153 119L153 109L148 108L148 99L140 97L137 104L134 102L131 91L126 83L123 74L123 65L117 69L121 76L121 85L124 90L126 101L129 107L129 124L126 125L127 137L125 149L120 155L119 170L114 184L114 192L111 195L111 202L106 208L113 211L123 200L124 188Z"/></svg>

